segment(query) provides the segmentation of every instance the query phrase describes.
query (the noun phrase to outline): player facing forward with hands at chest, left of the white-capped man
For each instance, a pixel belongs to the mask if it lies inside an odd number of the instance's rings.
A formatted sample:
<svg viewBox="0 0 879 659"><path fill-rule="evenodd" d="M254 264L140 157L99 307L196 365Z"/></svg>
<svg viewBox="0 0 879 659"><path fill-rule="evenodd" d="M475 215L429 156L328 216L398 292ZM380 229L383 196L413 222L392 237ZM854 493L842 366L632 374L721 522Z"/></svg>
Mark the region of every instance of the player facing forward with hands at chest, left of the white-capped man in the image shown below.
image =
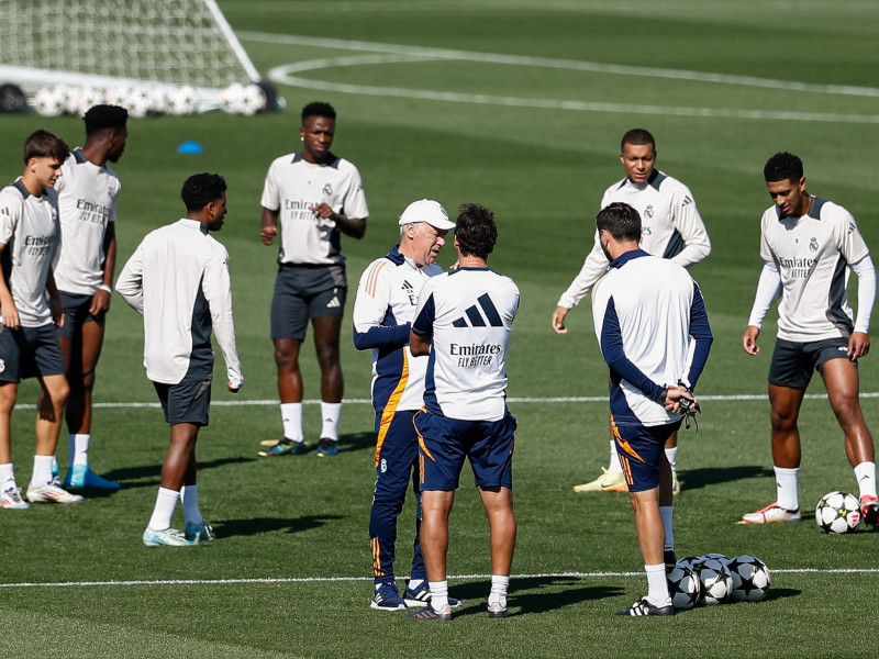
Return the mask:
<svg viewBox="0 0 879 659"><path fill-rule="evenodd" d="M263 457L303 454L302 375L299 351L309 321L321 368L321 427L316 455L338 453L343 379L338 335L347 280L341 236L366 233L364 185L357 168L330 152L336 113L329 103L302 109L302 150L276 158L263 188L260 237L270 245L280 233L278 277L271 302L271 340L278 367L283 437Z"/></svg>

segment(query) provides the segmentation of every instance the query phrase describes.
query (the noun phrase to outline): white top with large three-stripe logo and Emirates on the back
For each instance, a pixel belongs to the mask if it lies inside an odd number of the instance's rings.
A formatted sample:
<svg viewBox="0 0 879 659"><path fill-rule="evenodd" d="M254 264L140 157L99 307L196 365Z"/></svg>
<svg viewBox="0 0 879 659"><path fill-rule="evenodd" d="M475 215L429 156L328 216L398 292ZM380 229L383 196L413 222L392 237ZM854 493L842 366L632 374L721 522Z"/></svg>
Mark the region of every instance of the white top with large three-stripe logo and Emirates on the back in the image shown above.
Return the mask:
<svg viewBox="0 0 879 659"><path fill-rule="evenodd" d="M412 332L431 339L424 404L449 418L500 421L519 288L488 268L458 268L421 289Z"/></svg>

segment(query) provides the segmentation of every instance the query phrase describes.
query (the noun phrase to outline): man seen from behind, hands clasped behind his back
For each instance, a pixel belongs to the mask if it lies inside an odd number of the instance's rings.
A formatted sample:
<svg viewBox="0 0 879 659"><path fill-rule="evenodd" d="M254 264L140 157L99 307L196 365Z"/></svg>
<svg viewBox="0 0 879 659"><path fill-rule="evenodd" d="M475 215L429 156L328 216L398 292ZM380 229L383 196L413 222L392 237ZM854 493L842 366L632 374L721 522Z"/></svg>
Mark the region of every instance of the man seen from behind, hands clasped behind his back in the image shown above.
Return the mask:
<svg viewBox="0 0 879 659"><path fill-rule="evenodd" d="M638 247L641 217L634 208L612 203L596 225L610 270L592 290L592 317L610 367L611 427L648 585L645 597L617 615L672 615L666 565L675 562L674 509L664 447L697 404L692 390L713 337L692 277Z"/></svg>

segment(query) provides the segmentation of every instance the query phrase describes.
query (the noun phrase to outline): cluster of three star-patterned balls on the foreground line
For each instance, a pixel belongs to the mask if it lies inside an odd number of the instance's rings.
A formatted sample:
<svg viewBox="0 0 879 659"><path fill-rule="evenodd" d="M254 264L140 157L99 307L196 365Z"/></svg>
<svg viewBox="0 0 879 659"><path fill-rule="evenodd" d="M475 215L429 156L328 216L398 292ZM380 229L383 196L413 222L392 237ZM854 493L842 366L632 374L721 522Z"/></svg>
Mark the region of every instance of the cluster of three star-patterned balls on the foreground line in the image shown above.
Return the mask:
<svg viewBox="0 0 879 659"><path fill-rule="evenodd" d="M759 558L722 554L681 558L668 572L668 592L675 608L727 602L759 602L769 590L769 568Z"/></svg>

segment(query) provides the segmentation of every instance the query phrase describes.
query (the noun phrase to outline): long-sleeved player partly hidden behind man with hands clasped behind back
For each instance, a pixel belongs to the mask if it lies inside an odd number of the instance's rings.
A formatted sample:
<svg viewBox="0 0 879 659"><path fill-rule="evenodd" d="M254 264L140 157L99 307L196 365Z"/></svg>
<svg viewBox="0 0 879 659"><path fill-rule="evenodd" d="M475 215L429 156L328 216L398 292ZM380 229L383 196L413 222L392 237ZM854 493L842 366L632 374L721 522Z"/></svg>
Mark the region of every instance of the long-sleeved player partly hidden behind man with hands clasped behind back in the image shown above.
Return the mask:
<svg viewBox="0 0 879 659"><path fill-rule="evenodd" d="M643 129L628 131L620 145L620 161L626 176L604 191L601 208L613 202L634 208L642 222L639 246L653 256L668 258L685 268L706 258L711 254L711 241L693 196L682 182L655 168L656 142L653 135ZM568 312L579 304L607 270L608 259L596 233L592 250L586 257L582 269L568 290L561 293L553 312L552 323L556 333L567 333L565 317ZM609 468L596 480L575 485L575 492L626 491L613 437L610 451ZM666 457L671 465L672 492L679 494L677 433L672 433L666 443Z"/></svg>

